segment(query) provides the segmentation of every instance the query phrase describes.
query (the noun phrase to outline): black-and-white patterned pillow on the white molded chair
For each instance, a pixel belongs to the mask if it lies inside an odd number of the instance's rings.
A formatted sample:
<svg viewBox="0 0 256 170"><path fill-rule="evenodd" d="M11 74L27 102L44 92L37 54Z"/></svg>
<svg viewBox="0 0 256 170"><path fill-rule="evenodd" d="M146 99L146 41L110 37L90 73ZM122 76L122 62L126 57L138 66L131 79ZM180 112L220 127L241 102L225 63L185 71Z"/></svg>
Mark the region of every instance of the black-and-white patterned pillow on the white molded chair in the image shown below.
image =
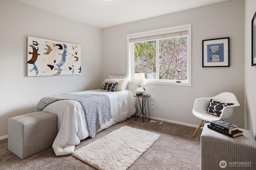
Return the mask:
<svg viewBox="0 0 256 170"><path fill-rule="evenodd" d="M233 103L222 103L222 102L216 102L214 100L210 100L208 109L206 110L207 113L210 113L212 115L220 116L222 113L224 107L234 105Z"/></svg>

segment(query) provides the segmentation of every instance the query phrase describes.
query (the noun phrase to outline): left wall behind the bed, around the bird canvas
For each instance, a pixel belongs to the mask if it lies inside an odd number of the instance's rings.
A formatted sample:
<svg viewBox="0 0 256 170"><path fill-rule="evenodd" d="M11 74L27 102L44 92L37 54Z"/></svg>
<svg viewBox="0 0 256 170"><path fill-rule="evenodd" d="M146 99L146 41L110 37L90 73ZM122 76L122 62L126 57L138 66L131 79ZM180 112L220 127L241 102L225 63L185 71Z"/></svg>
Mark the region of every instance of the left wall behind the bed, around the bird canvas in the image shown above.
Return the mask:
<svg viewBox="0 0 256 170"><path fill-rule="evenodd" d="M82 73L27 77L27 36L82 46ZM35 110L40 98L100 88L101 29L16 0L0 0L0 138L8 118Z"/></svg>

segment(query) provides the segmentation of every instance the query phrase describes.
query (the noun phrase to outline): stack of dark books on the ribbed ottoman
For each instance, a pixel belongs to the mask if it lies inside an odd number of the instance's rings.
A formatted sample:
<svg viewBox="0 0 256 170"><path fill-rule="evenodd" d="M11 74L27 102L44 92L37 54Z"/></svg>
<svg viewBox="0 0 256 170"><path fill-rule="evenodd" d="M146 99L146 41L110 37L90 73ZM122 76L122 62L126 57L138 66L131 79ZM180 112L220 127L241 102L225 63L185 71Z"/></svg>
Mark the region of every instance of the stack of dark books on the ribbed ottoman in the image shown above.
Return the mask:
<svg viewBox="0 0 256 170"><path fill-rule="evenodd" d="M238 130L237 125L232 125L222 120L212 121L210 124L207 125L207 127L229 137L238 137L243 135L243 132Z"/></svg>

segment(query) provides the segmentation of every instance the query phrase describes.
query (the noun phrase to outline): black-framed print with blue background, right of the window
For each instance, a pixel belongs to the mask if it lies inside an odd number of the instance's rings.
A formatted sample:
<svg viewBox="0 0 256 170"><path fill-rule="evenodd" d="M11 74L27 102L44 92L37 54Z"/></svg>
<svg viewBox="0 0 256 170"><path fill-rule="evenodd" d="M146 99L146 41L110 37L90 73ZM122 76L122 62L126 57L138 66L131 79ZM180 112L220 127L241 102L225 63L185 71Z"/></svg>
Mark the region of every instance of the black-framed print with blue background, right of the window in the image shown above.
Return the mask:
<svg viewBox="0 0 256 170"><path fill-rule="evenodd" d="M203 45L203 67L229 67L229 37L206 39Z"/></svg>

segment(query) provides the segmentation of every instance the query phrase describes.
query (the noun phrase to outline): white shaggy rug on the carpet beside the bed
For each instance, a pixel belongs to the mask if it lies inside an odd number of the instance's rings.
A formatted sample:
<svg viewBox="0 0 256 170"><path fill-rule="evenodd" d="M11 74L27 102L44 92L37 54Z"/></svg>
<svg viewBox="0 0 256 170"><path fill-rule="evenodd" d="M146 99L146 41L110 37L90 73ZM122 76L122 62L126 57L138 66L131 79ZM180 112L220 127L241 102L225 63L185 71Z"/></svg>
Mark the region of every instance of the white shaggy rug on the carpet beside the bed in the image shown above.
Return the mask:
<svg viewBox="0 0 256 170"><path fill-rule="evenodd" d="M76 158L99 170L126 170L160 135L123 126L108 135L76 150Z"/></svg>

